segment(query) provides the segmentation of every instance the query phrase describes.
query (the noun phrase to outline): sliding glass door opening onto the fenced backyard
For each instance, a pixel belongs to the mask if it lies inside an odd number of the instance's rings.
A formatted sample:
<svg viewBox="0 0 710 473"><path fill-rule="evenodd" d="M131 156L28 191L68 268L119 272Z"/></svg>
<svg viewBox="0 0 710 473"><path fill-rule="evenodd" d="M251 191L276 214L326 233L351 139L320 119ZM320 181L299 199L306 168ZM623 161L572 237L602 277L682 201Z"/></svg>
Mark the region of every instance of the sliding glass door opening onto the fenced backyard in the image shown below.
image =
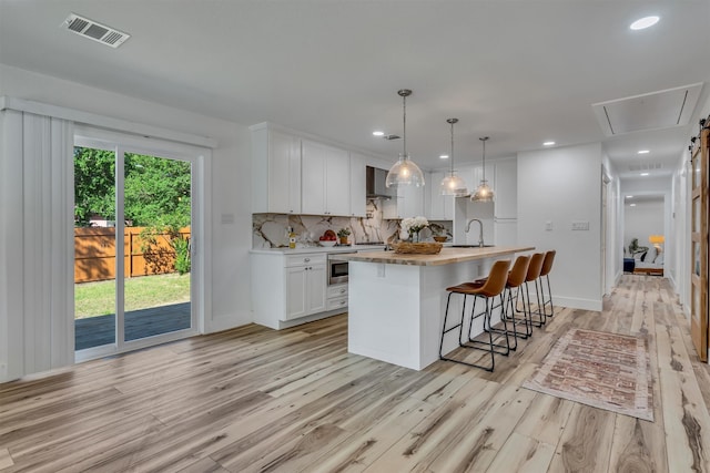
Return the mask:
<svg viewBox="0 0 710 473"><path fill-rule="evenodd" d="M75 138L78 359L197 332L194 161L170 150Z"/></svg>

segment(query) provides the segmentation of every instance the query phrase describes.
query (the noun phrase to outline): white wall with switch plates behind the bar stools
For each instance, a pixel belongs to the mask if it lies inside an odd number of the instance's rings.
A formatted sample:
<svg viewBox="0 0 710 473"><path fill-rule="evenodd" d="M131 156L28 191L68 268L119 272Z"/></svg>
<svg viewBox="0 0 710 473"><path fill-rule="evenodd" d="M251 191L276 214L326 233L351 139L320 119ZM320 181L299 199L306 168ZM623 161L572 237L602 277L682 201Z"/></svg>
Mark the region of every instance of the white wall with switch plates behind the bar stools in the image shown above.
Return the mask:
<svg viewBox="0 0 710 473"><path fill-rule="evenodd" d="M600 143L518 154L518 244L557 250L556 305L601 310L601 160Z"/></svg>

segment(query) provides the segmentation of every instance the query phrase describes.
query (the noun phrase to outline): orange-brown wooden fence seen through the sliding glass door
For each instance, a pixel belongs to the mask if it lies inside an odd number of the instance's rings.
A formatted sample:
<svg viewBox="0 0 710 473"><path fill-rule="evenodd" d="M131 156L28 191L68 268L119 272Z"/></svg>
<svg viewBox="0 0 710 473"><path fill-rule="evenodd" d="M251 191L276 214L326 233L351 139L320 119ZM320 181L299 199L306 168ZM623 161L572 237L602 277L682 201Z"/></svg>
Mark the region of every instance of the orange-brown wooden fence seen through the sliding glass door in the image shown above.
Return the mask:
<svg viewBox="0 0 710 473"><path fill-rule="evenodd" d="M141 238L144 227L125 227L123 255L125 276L174 273L175 250L168 234L155 237L148 246ZM190 227L180 230L190 238ZM115 228L74 228L74 282L100 281L115 278Z"/></svg>

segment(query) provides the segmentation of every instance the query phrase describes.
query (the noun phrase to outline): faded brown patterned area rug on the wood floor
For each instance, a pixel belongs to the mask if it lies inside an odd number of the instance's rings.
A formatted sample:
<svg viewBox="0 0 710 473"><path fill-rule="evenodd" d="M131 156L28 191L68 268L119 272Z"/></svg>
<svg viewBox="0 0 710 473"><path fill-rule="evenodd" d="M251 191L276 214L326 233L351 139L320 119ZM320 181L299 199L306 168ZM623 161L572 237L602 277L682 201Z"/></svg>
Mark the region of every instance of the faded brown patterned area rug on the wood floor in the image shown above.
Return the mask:
<svg viewBox="0 0 710 473"><path fill-rule="evenodd" d="M646 339L571 329L524 388L653 421Z"/></svg>

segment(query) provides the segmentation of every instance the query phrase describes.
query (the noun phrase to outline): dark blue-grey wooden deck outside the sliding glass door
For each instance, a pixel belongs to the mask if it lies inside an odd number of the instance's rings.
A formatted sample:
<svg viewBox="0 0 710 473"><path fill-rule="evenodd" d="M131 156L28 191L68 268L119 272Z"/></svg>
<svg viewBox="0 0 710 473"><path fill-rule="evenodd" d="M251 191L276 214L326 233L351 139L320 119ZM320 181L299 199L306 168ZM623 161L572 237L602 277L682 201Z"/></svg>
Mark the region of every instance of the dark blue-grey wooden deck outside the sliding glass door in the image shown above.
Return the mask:
<svg viewBox="0 0 710 473"><path fill-rule="evenodd" d="M138 340L190 328L190 302L125 312L125 340ZM115 341L115 316L74 320L74 349L83 350Z"/></svg>

